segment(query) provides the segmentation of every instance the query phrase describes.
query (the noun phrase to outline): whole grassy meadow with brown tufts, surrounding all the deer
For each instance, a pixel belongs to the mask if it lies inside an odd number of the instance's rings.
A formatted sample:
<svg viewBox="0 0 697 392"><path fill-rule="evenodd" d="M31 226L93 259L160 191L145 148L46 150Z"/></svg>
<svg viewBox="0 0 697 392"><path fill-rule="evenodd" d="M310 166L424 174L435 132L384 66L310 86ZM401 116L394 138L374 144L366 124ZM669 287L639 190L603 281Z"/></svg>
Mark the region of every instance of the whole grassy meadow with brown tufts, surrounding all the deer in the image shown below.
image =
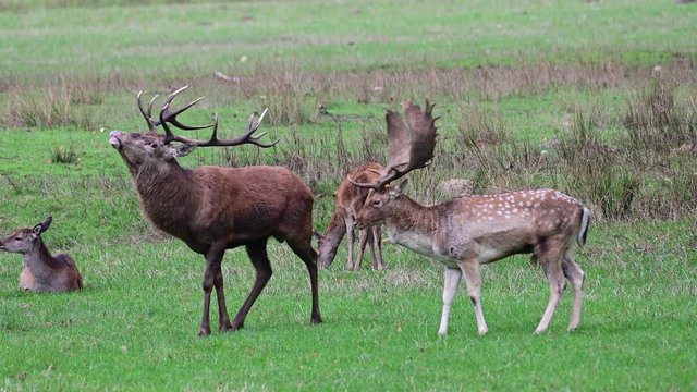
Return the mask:
<svg viewBox="0 0 697 392"><path fill-rule="evenodd" d="M84 290L17 287L0 254L0 390L697 389L697 3L676 1L0 0L0 234L48 215L49 248ZM533 331L549 289L527 257L482 267L489 333L464 285L438 338L443 272L386 244L388 268L320 270L270 242L273 278L245 328L198 338L204 259L142 217L111 130L145 128L135 95L189 85L183 115L277 147L200 148L199 164L281 164L317 195L323 231L345 173L384 162L386 109L437 103L432 164L407 194L552 187L592 210L580 329L571 295ZM180 101L181 99L181 101ZM205 132L198 133L206 137ZM364 267L368 261L364 260ZM227 253L234 314L254 281ZM215 309L217 309L213 306Z"/></svg>

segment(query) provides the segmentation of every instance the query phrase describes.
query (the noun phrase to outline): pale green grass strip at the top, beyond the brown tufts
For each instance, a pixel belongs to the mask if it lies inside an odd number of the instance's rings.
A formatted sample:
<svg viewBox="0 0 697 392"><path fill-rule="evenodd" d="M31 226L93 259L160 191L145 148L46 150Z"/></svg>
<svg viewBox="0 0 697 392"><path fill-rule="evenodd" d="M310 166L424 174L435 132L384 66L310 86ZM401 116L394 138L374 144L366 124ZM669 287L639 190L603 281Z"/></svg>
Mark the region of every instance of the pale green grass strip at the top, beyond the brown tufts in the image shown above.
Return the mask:
<svg viewBox="0 0 697 392"><path fill-rule="evenodd" d="M696 14L694 5L629 0L9 8L0 14L0 74L200 76L243 57L248 64L297 61L317 70L604 56L655 64L675 52L694 58Z"/></svg>

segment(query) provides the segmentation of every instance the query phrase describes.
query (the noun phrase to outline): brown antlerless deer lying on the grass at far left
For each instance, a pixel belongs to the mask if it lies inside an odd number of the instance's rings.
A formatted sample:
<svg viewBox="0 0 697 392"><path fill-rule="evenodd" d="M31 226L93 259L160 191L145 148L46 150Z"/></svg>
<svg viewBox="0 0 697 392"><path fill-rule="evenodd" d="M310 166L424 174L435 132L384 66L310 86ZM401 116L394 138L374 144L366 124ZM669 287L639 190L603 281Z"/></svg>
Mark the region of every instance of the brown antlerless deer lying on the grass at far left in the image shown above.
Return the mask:
<svg viewBox="0 0 697 392"><path fill-rule="evenodd" d="M68 255L51 256L41 233L51 225L48 217L34 228L20 229L0 242L0 250L24 255L20 289L35 292L64 292L83 287L83 277Z"/></svg>

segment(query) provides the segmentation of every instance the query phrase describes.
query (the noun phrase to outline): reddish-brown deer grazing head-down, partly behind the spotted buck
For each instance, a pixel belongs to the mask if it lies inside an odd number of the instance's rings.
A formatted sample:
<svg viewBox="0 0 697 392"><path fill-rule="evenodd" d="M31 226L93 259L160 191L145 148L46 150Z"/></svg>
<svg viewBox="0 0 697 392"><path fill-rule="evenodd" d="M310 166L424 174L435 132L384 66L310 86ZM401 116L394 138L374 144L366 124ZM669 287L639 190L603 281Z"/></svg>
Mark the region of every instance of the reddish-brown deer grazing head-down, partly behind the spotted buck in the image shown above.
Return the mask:
<svg viewBox="0 0 697 392"><path fill-rule="evenodd" d="M337 196L334 200L334 215L329 221L329 225L325 232L325 235L317 235L319 238L319 266L329 267L337 256L337 248L341 244L344 236L348 237L348 261L346 269L359 270L363 264L363 254L366 245L370 246L370 265L378 270L384 269L384 262L382 261L382 230L379 224L369 229L358 231L358 258L353 258L353 245L355 242L354 225L355 218L358 216L358 211L363 208L363 205L368 196L368 189L355 186L348 177L355 179L360 182L371 182L378 177L375 173L382 169L382 166L377 162L369 162L362 164L351 172L339 185ZM376 257L376 246L378 248L378 257Z"/></svg>

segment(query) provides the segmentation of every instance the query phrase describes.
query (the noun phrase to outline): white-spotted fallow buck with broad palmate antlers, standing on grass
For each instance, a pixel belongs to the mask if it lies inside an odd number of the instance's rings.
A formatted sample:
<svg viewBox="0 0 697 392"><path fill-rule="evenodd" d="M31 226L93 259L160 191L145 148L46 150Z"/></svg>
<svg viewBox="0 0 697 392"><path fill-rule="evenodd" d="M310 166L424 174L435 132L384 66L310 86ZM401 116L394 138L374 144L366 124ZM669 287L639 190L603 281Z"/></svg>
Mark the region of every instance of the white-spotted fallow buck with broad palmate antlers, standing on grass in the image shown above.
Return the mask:
<svg viewBox="0 0 697 392"><path fill-rule="evenodd" d="M564 277L574 290L568 330L577 329L584 272L568 249L574 238L579 246L584 245L590 216L578 201L560 192L542 189L463 196L423 206L402 194L405 181L390 185L409 171L425 168L432 158L437 120L431 117L432 109L428 101L426 111L407 102L405 119L388 112L389 162L377 181L354 182L371 188L357 217L357 226L384 223L391 242L429 256L445 267L440 335L448 333L450 308L463 273L479 334L487 333L481 313L479 265L529 253L543 267L551 291L536 333L549 327L566 287Z"/></svg>

